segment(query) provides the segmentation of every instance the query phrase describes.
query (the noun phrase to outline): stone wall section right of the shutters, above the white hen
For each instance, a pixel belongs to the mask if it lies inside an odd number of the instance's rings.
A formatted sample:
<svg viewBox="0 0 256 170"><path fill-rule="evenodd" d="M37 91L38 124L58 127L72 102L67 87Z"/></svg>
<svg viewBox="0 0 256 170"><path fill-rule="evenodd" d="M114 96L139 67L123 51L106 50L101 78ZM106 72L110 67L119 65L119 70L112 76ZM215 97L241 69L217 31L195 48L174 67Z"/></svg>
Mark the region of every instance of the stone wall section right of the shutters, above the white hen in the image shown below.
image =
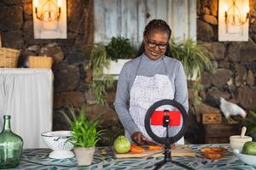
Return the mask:
<svg viewBox="0 0 256 170"><path fill-rule="evenodd" d="M201 77L205 103L219 106L223 97L248 110L256 110L256 1L250 0L249 41L218 42L218 0L197 1L197 39L212 53L213 71Z"/></svg>

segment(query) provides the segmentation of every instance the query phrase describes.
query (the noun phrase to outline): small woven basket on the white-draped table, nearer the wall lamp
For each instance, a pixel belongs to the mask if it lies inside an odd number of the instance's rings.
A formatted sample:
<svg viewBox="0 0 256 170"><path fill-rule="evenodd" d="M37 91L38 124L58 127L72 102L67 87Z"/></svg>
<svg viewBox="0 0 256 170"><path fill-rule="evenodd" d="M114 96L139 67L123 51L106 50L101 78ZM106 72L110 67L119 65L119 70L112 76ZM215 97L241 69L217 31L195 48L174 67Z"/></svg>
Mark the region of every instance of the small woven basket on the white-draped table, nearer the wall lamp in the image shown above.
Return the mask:
<svg viewBox="0 0 256 170"><path fill-rule="evenodd" d="M51 69L52 58L44 56L29 56L29 68L47 68Z"/></svg>

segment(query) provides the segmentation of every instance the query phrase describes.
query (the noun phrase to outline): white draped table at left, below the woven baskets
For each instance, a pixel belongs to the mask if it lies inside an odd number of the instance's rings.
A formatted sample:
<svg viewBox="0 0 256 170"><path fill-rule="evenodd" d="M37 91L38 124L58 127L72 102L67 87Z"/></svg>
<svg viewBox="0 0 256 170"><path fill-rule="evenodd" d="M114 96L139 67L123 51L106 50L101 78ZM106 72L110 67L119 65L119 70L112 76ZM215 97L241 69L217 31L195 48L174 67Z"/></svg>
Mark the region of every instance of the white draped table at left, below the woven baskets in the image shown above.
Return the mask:
<svg viewBox="0 0 256 170"><path fill-rule="evenodd" d="M53 73L50 69L0 68L0 130L3 115L24 140L24 148L45 147L41 133L51 131Z"/></svg>

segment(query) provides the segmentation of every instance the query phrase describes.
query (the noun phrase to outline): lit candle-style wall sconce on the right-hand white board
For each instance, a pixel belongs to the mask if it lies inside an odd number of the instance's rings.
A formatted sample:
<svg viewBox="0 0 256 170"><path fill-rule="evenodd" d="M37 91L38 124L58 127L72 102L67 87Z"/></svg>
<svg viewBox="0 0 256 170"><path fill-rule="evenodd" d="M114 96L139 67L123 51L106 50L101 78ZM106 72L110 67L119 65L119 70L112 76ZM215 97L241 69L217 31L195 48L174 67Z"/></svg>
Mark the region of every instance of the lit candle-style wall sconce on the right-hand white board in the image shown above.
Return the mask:
<svg viewBox="0 0 256 170"><path fill-rule="evenodd" d="M241 26L247 23L247 20L251 18L249 14L249 6L246 6L246 8L243 8L243 11L241 12L241 9L238 8L236 5L236 0L232 0L232 5L230 8L228 8L227 4L224 3L224 17L225 17L225 23L227 26Z"/></svg>

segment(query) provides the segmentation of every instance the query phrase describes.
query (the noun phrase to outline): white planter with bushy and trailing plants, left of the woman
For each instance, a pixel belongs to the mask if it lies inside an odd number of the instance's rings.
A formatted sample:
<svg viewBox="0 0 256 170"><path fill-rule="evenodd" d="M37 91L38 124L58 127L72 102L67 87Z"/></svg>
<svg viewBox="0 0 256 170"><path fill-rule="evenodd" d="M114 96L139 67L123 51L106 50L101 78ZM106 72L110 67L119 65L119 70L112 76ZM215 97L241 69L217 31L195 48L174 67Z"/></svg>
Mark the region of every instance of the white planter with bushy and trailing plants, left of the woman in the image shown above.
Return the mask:
<svg viewBox="0 0 256 170"><path fill-rule="evenodd" d="M107 90L113 88L114 80L136 49L132 47L129 39L113 37L107 46L96 43L84 47L83 52L90 56L89 65L84 65L87 76L90 76L86 77L86 82L90 82L89 88L95 94L96 104L106 105Z"/></svg>

